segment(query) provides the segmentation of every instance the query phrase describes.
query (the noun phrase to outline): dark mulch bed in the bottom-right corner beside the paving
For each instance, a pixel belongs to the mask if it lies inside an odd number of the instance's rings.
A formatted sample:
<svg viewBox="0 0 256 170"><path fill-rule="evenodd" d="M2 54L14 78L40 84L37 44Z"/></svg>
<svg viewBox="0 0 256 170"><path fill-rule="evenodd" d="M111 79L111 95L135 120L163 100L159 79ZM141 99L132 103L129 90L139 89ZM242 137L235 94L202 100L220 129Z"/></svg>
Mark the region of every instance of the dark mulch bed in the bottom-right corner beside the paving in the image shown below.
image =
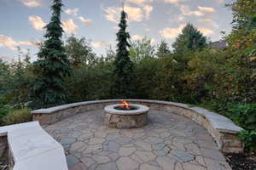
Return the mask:
<svg viewBox="0 0 256 170"><path fill-rule="evenodd" d="M256 153L224 154L232 170L256 170Z"/></svg>

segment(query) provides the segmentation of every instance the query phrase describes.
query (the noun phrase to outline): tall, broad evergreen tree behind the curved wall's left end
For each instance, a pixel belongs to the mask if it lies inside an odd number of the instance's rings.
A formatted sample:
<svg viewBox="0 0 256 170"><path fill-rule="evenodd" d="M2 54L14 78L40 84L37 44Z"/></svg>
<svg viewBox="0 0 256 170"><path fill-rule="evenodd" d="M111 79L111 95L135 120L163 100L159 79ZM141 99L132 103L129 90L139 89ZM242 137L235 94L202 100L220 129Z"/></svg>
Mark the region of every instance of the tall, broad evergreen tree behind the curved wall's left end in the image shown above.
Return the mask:
<svg viewBox="0 0 256 170"><path fill-rule="evenodd" d="M70 67L61 42L61 0L53 0L52 16L45 26L46 38L34 63L37 80L32 88L33 107L49 107L66 102L64 77L69 75Z"/></svg>

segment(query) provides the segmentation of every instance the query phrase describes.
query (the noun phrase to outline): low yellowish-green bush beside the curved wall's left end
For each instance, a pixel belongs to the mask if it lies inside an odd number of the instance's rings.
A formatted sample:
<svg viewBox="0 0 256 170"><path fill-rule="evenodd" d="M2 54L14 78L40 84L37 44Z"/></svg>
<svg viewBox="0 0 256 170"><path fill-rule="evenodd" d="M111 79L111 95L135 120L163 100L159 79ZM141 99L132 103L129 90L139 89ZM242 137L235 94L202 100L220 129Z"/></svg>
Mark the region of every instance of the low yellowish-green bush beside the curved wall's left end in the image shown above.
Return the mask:
<svg viewBox="0 0 256 170"><path fill-rule="evenodd" d="M31 122L32 114L30 109L23 108L20 110L11 111L7 116L3 117L5 125L17 124L22 122Z"/></svg>

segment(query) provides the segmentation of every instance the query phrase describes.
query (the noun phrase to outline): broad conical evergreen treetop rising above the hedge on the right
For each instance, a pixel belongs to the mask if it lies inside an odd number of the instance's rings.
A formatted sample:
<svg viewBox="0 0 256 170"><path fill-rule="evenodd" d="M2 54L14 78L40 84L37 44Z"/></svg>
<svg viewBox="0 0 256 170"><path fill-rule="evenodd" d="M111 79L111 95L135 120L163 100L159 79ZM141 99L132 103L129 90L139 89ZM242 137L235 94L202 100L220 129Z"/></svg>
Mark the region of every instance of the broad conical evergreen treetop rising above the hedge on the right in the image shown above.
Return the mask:
<svg viewBox="0 0 256 170"><path fill-rule="evenodd" d="M184 58L186 54L207 47L207 37L204 37L192 24L187 24L176 41L172 44L173 53Z"/></svg>

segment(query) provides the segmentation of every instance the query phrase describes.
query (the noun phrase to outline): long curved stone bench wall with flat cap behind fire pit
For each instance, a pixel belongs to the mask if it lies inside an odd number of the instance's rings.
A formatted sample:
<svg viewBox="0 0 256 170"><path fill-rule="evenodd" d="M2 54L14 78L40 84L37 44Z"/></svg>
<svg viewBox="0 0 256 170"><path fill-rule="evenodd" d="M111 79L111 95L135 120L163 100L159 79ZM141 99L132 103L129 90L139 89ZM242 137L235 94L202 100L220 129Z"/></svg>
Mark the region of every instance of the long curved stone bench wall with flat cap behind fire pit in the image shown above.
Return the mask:
<svg viewBox="0 0 256 170"><path fill-rule="evenodd" d="M173 114L188 117L205 127L218 144L219 150L223 152L242 152L243 144L237 139L236 134L242 128L238 127L225 116L218 115L212 111L200 107L189 107L180 103L148 100L148 99L126 99L130 103L147 105L151 110L166 111ZM69 116L74 116L86 111L102 110L106 105L119 103L119 99L95 100L60 105L47 109L32 111L33 120L41 125L49 125L59 122Z"/></svg>

